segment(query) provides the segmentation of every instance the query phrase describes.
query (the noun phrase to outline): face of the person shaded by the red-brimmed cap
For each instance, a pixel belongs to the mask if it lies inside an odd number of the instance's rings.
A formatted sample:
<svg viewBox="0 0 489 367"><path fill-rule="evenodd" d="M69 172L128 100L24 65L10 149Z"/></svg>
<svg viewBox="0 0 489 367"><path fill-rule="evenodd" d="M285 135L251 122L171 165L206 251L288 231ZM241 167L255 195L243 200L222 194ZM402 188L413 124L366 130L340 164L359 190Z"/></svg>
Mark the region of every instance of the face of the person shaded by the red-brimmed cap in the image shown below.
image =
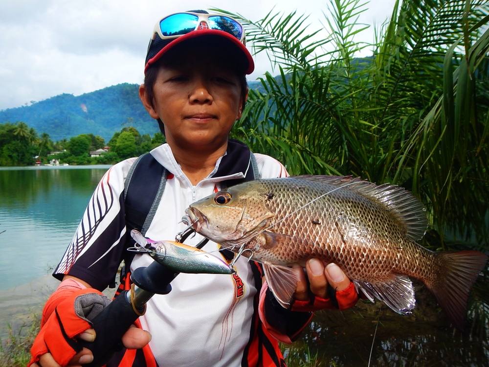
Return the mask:
<svg viewBox="0 0 489 367"><path fill-rule="evenodd" d="M222 61L222 50L199 47L175 60L159 68L148 112L163 121L170 146L207 149L224 144L242 112L237 73Z"/></svg>

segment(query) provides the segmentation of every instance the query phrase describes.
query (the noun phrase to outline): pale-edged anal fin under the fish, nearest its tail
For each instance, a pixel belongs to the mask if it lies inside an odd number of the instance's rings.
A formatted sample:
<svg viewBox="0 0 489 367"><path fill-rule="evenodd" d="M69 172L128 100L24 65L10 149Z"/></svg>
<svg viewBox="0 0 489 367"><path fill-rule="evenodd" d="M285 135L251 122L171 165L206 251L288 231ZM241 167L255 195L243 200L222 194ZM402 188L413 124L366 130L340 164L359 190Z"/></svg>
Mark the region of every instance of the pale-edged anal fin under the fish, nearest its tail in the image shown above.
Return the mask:
<svg viewBox="0 0 489 367"><path fill-rule="evenodd" d="M406 275L393 274L391 279L378 283L361 280L353 282L356 290L361 290L372 302L377 298L398 314L409 315L416 305L413 283Z"/></svg>

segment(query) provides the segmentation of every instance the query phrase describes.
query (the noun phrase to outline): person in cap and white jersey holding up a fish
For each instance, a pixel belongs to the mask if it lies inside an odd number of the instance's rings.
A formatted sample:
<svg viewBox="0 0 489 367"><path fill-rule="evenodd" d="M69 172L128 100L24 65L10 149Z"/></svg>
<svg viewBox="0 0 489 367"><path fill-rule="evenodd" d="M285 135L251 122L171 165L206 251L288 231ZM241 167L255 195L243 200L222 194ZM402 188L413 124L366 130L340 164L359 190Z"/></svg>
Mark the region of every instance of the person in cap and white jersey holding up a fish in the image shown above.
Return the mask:
<svg viewBox="0 0 489 367"><path fill-rule="evenodd" d="M230 17L190 11L156 23L139 96L166 137L167 143L151 152L165 168L166 183L147 237L173 239L183 229L184 209L224 186L257 178L255 174L287 176L280 162L229 140L247 97L245 75L253 68L243 27ZM54 272L63 282L44 307L33 366L90 363L89 349L77 353L73 347L77 338L96 338L83 320L86 315L73 312L80 297L97 299L102 309L106 302L98 298L99 291L111 283L122 259L128 273L152 262L146 254L130 258L127 252L131 228L125 219L124 184L134 161L114 165L102 178ZM198 237L186 243L195 245ZM203 250L220 249L209 242ZM108 366L283 366L277 340L292 341L311 320L310 311L331 304L328 284L337 291L340 308L357 299L337 266L312 259L307 275L295 268L295 302L286 310L267 291L258 263L240 258L234 266L236 275L178 275L169 294L148 301L138 322L143 330L126 332L122 342L128 349L114 355ZM129 286L130 278L123 283ZM75 324L78 329L71 327ZM55 347L54 340L59 342Z"/></svg>

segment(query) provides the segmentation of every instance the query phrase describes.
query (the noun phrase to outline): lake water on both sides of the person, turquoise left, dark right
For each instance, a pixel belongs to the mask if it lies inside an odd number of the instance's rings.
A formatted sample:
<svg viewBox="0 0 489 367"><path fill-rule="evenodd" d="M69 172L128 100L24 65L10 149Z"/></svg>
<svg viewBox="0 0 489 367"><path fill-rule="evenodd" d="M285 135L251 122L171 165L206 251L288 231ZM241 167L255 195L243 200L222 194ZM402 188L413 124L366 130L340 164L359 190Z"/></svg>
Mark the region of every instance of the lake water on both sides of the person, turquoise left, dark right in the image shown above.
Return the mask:
<svg viewBox="0 0 489 367"><path fill-rule="evenodd" d="M52 272L109 167L0 167L0 290ZM411 316L363 300L350 310L319 312L296 343L284 346L289 366L489 366L488 294L479 279L464 333L422 284ZM8 312L18 313L18 303L9 302Z"/></svg>

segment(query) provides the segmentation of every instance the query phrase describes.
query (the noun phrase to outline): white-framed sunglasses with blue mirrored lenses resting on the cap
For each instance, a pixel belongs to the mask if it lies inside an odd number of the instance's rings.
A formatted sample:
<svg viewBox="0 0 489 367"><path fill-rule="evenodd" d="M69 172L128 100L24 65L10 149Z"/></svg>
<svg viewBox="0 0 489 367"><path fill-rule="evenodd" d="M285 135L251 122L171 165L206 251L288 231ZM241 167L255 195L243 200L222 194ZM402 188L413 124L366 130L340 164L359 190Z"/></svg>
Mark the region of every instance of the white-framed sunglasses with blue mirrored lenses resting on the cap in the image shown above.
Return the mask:
<svg viewBox="0 0 489 367"><path fill-rule="evenodd" d="M165 40L202 29L214 29L229 33L244 44L243 25L230 17L219 14L175 13L156 23L154 33Z"/></svg>

